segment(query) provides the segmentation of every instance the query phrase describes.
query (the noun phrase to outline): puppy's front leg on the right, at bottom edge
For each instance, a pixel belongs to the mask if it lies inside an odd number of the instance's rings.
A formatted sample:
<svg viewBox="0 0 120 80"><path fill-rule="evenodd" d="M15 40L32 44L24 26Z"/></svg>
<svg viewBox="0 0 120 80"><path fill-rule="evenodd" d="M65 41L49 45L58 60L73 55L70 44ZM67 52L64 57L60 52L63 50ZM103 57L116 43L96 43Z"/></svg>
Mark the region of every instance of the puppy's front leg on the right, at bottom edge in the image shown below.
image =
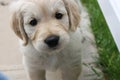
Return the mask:
<svg viewBox="0 0 120 80"><path fill-rule="evenodd" d="M63 69L62 80L78 80L80 73L81 73L81 67Z"/></svg>

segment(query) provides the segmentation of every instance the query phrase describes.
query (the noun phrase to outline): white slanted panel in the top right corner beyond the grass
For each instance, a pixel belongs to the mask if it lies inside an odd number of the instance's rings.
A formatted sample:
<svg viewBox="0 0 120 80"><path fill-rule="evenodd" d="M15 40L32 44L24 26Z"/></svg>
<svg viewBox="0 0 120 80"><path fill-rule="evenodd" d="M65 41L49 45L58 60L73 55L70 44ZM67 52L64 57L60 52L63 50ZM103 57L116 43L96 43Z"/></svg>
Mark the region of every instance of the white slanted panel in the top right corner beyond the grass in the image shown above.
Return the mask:
<svg viewBox="0 0 120 80"><path fill-rule="evenodd" d="M120 0L98 0L98 3L120 51Z"/></svg>

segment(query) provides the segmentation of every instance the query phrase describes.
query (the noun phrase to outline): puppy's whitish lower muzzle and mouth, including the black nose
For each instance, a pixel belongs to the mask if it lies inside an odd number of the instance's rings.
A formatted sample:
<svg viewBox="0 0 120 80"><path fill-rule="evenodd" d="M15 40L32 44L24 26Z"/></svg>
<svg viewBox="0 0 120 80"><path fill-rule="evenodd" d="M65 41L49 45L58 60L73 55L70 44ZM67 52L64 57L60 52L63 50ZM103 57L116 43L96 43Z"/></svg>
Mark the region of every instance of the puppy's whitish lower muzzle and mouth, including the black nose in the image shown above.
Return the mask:
<svg viewBox="0 0 120 80"><path fill-rule="evenodd" d="M67 46L68 42L69 37L52 35L42 41L37 41L34 47L39 52L52 54L62 51Z"/></svg>

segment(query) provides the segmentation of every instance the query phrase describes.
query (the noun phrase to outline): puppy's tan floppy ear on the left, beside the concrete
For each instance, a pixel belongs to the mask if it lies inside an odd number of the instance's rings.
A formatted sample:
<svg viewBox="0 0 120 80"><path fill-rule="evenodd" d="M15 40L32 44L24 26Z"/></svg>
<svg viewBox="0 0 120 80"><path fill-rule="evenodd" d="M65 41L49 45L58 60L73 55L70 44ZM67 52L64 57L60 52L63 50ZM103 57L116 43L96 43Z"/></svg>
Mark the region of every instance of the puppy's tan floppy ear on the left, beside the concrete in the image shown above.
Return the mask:
<svg viewBox="0 0 120 80"><path fill-rule="evenodd" d="M24 30L24 21L23 16L20 10L14 10L11 13L10 17L10 26L12 30L15 32L15 34L24 41L24 45L27 45L28 43L28 37Z"/></svg>

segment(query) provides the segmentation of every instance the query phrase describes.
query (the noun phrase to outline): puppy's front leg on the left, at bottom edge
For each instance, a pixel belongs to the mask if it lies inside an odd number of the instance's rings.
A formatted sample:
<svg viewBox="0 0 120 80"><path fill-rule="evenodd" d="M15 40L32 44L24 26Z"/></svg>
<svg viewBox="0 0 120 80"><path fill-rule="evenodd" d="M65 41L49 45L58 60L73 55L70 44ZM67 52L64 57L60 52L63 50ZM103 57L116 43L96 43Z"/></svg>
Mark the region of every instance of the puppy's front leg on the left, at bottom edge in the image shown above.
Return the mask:
<svg viewBox="0 0 120 80"><path fill-rule="evenodd" d="M45 70L28 70L29 80L46 80L45 79Z"/></svg>

